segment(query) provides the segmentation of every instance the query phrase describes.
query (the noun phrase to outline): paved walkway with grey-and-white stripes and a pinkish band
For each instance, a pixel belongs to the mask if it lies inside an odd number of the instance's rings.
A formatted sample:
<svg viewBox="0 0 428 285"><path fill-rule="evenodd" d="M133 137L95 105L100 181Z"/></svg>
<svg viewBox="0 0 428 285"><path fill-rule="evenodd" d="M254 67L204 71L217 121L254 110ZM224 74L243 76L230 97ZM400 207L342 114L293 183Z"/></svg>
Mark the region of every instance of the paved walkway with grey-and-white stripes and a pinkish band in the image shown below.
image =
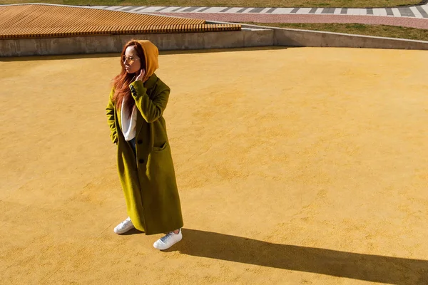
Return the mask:
<svg viewBox="0 0 428 285"><path fill-rule="evenodd" d="M428 29L428 4L393 8L254 8L185 6L90 6L208 21L256 23L357 23Z"/></svg>

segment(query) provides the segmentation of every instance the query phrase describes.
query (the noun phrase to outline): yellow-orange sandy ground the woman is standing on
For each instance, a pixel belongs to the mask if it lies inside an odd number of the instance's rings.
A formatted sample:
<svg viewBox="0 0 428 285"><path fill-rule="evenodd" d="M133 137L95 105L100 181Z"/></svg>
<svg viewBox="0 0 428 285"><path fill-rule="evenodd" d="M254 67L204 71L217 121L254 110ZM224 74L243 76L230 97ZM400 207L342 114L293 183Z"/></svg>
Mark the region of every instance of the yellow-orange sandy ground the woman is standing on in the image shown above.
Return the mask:
<svg viewBox="0 0 428 285"><path fill-rule="evenodd" d="M1 284L428 284L428 53L162 53L185 227L126 218L118 55L0 61Z"/></svg>

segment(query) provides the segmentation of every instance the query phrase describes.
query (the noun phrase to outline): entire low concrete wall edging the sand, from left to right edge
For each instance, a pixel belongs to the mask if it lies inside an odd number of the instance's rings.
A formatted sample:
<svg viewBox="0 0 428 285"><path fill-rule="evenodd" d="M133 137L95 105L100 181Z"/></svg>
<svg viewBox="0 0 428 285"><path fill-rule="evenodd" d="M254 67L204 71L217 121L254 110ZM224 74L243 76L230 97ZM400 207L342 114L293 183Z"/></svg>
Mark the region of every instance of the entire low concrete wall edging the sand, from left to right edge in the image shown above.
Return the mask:
<svg viewBox="0 0 428 285"><path fill-rule="evenodd" d="M0 56L118 53L121 52L123 45L132 38L146 38L155 43L161 51L251 46L330 46L428 50L428 41L243 25L242 31L0 40Z"/></svg>

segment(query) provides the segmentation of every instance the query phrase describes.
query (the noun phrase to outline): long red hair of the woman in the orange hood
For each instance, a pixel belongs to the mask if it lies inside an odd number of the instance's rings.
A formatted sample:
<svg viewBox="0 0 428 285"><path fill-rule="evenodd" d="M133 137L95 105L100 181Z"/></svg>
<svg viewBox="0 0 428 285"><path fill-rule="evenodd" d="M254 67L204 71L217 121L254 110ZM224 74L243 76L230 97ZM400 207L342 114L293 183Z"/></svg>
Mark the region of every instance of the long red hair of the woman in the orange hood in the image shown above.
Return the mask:
<svg viewBox="0 0 428 285"><path fill-rule="evenodd" d="M128 48L128 46L133 46L134 48L136 48L137 55L140 58L141 68L146 68L143 47L140 43L138 43L138 41L128 41L128 43L123 46L123 50L121 53L121 73L119 73L115 78L113 78L112 83L114 87L113 102L115 103L117 110L120 110L123 99L126 98L126 108L128 108L128 110L130 111L129 115L131 116L131 110L133 108L133 105L135 105L135 101L131 98L131 90L129 90L129 84L133 82L133 79L138 76L138 74L127 73L125 69L125 64L122 61L122 56L125 54L126 48Z"/></svg>

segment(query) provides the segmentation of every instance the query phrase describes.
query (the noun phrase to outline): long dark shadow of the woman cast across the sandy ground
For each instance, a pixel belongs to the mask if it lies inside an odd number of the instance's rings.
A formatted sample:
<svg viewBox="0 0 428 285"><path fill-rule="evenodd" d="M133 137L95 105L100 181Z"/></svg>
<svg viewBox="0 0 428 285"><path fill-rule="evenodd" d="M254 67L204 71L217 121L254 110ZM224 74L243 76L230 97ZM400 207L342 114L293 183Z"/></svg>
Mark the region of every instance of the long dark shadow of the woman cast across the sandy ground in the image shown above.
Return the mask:
<svg viewBox="0 0 428 285"><path fill-rule="evenodd" d="M427 284L428 261L272 244L228 234L183 229L167 252L305 271L386 284Z"/></svg>

